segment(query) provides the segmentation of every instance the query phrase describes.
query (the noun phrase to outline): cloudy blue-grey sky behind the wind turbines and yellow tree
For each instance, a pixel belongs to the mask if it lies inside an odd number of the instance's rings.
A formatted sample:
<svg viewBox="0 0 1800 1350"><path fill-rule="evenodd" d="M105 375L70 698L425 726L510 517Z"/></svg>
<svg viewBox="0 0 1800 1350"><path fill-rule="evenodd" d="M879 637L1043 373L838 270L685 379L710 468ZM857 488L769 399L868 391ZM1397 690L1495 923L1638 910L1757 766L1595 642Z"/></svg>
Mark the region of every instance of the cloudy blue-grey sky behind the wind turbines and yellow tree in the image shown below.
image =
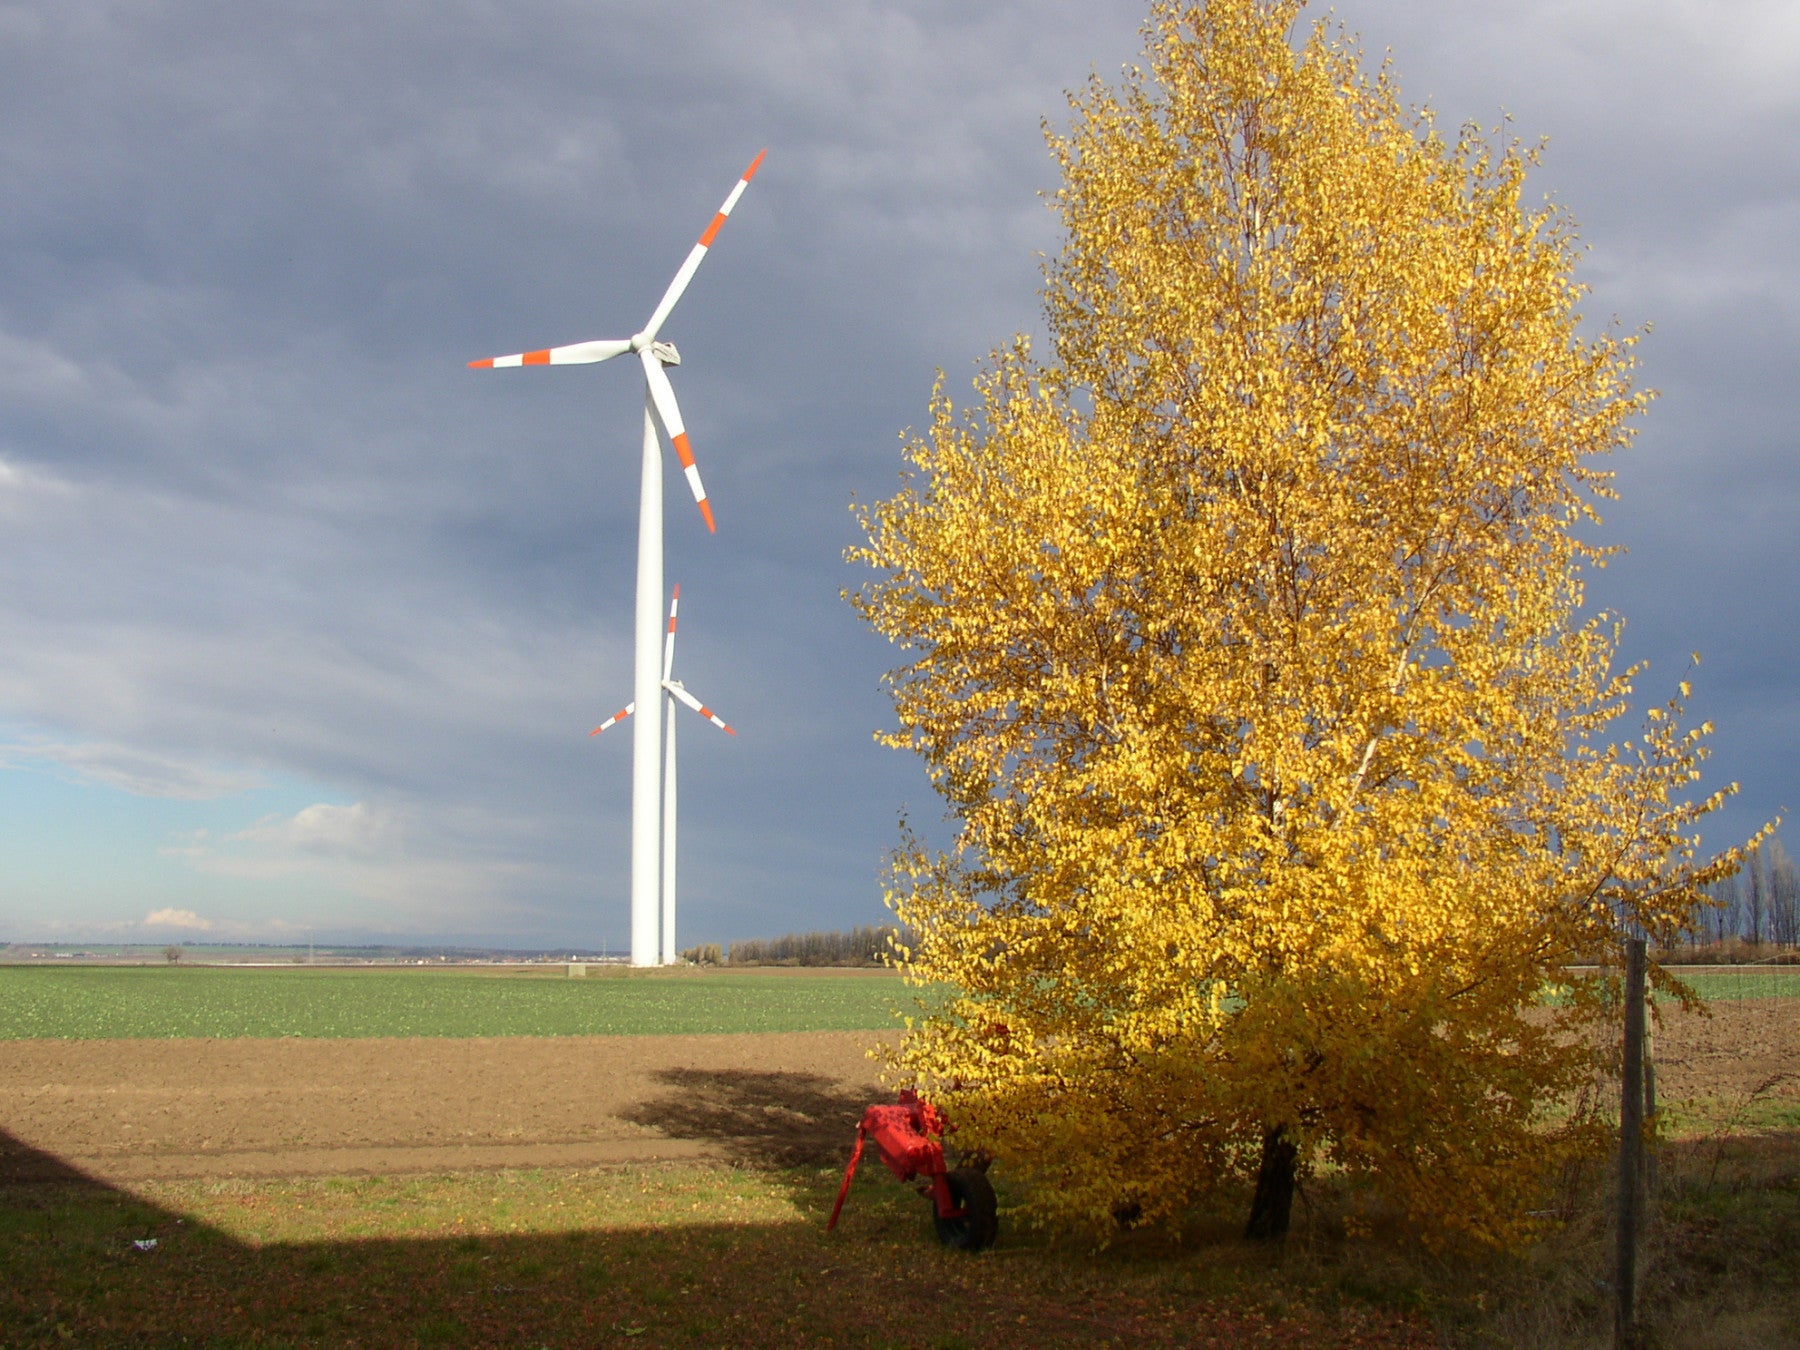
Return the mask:
<svg viewBox="0 0 1800 1350"><path fill-rule="evenodd" d="M1314 14L1323 9L1312 11ZM1717 725L1708 844L1800 751L1800 9L1345 0L1438 122L1548 139L1661 391L1589 581ZM900 653L841 590L936 371L1039 328L1042 122L1129 4L0 0L0 941L626 943L641 376L662 337L680 945L882 922Z"/></svg>

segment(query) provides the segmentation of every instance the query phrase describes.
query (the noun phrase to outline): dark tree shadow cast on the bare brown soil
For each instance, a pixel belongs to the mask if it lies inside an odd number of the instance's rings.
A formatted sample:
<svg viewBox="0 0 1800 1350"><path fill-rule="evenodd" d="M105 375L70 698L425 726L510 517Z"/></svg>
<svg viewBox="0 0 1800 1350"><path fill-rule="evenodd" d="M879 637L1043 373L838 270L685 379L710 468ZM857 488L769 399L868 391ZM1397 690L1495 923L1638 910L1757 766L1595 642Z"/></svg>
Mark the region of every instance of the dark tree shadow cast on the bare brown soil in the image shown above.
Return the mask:
<svg viewBox="0 0 1800 1350"><path fill-rule="evenodd" d="M718 1145L740 1166L842 1166L875 1100L817 1073L664 1069L655 1078L670 1093L621 1118Z"/></svg>

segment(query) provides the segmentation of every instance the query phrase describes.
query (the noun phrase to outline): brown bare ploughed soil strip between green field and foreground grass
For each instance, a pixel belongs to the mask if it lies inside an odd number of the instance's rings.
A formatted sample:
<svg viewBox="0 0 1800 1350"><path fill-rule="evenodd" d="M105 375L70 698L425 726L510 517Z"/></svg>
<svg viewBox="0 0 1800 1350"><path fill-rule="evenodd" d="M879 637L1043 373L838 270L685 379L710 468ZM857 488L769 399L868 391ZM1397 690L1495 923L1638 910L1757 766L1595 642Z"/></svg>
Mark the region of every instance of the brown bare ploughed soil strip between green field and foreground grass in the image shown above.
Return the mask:
<svg viewBox="0 0 1800 1350"><path fill-rule="evenodd" d="M0 1042L0 1181L842 1159L884 1100L871 1031ZM1800 1071L1800 1001L1665 1010L1665 1103ZM1789 1076L1773 1094L1800 1098Z"/></svg>

